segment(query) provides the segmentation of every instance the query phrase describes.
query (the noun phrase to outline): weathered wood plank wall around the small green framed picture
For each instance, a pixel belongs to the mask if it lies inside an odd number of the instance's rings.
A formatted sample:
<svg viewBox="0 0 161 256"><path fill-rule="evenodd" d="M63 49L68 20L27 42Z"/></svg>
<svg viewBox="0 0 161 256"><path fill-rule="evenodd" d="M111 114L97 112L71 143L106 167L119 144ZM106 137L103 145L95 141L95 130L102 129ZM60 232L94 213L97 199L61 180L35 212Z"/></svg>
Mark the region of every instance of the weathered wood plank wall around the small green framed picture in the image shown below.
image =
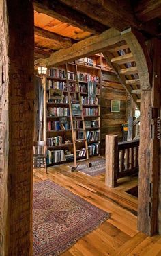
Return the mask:
<svg viewBox="0 0 161 256"><path fill-rule="evenodd" d="M111 100L120 100L120 112L111 112ZM119 84L113 73L102 73L102 96L101 96L101 154L105 153L105 137L108 134L118 135L122 140L121 125L126 122L127 93Z"/></svg>

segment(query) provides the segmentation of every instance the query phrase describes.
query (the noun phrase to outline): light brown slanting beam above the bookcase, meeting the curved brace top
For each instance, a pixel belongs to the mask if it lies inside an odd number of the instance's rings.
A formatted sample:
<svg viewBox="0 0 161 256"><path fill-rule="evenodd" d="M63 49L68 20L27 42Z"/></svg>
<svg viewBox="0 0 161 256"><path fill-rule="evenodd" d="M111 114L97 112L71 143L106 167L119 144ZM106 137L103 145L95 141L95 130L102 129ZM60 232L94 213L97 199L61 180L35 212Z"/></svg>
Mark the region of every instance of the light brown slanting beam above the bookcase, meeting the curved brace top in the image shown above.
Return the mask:
<svg viewBox="0 0 161 256"><path fill-rule="evenodd" d="M46 60L38 60L42 65L47 67L59 66L65 62L70 62L72 60L77 60L89 54L96 54L100 51L104 51L106 47L114 45L121 40L120 32L115 29L109 29L100 34L99 36L92 36L82 40L81 42L75 43L72 47L68 49L61 49L51 54Z"/></svg>

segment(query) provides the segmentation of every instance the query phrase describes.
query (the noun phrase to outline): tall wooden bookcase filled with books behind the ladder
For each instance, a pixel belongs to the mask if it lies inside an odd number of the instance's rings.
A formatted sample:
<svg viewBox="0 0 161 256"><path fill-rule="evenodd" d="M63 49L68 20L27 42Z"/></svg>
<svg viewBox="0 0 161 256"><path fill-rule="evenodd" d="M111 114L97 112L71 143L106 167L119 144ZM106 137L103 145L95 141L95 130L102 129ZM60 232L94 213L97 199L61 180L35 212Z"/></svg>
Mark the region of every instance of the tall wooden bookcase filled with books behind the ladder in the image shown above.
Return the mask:
<svg viewBox="0 0 161 256"><path fill-rule="evenodd" d="M102 84L102 70L107 69L102 54L89 56L77 60L77 74L74 73L74 62L68 63L68 82L72 100L76 100L76 75L78 75L81 102L86 126L89 156L100 154L100 95ZM108 68L109 69L109 68ZM89 89L95 89L95 97ZM61 99L55 99L62 93ZM55 94L56 93L56 94ZM54 98L53 98L54 95ZM59 97L59 95L58 95ZM65 66L51 68L46 77L46 142L48 147L48 166L57 165L74 160L72 129L70 124L69 97ZM81 128L81 122L76 122L76 128ZM81 132L78 131L81 140ZM85 147L83 141L78 143L80 153L78 159L85 158L81 149Z"/></svg>

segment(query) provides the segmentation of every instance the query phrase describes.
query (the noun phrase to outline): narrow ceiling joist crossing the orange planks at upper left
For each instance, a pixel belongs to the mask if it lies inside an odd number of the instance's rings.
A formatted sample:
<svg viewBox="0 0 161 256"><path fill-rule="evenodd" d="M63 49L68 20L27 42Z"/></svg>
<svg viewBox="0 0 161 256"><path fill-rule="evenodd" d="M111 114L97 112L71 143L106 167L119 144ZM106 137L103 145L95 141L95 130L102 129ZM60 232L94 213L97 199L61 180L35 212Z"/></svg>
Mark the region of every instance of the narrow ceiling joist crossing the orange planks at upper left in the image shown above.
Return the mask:
<svg viewBox="0 0 161 256"><path fill-rule="evenodd" d="M72 40L67 37L60 36L59 34L55 34L53 32L50 32L48 30L44 30L41 27L34 27L34 32L38 36L42 36L44 38L53 39L58 41L60 44L64 45L65 47L72 46L73 43L76 43L75 40Z"/></svg>

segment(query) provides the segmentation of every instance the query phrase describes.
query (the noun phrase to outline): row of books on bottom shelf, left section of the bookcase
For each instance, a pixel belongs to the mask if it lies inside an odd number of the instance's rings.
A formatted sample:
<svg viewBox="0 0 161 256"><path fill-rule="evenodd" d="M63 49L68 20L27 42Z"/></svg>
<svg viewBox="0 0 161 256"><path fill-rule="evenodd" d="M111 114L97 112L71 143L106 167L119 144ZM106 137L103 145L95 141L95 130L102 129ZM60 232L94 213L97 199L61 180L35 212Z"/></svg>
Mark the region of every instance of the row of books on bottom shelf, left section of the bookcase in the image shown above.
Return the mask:
<svg viewBox="0 0 161 256"><path fill-rule="evenodd" d="M47 165L61 163L63 161L66 161L63 150L47 150Z"/></svg>

